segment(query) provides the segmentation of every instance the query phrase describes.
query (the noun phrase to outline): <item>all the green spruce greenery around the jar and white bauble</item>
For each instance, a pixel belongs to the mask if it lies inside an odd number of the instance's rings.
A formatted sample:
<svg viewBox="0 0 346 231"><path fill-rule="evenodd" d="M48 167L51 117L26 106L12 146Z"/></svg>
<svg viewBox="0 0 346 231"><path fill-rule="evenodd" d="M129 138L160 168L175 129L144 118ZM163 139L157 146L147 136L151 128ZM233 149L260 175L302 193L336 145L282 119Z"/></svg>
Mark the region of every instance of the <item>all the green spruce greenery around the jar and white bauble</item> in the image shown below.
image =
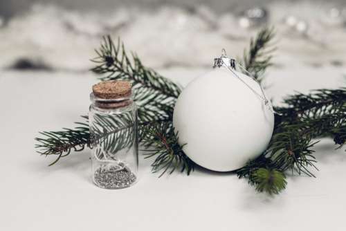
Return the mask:
<svg viewBox="0 0 346 231"><path fill-rule="evenodd" d="M244 66L260 82L266 68L272 65L273 36L273 29L264 28L251 39L250 48L244 53ZM93 71L102 75L102 80L129 80L134 86L134 100L139 105L139 138L146 147L147 158L154 158L153 172L162 175L181 169L190 174L194 163L184 154L178 133L172 126L174 104L181 87L143 66L136 55L128 56L120 40L114 44L110 37L104 37L96 53L98 56L93 61L97 66ZM275 129L268 149L238 169L239 178L247 178L259 192L278 194L286 187L287 171L314 176L316 138L331 137L339 148L345 145L345 102L345 88L290 95L284 100L284 106L275 107L282 116L275 115ZM71 151L90 147L94 138L89 137L89 125L86 122L78 124L75 129L43 132L43 137L37 138L38 152L46 156L57 155L59 160ZM100 127L107 124L109 121L100 118ZM96 131L100 136L95 138L107 139L109 148L128 144L131 142L126 135L128 128L121 124L114 122L105 133Z"/></svg>

